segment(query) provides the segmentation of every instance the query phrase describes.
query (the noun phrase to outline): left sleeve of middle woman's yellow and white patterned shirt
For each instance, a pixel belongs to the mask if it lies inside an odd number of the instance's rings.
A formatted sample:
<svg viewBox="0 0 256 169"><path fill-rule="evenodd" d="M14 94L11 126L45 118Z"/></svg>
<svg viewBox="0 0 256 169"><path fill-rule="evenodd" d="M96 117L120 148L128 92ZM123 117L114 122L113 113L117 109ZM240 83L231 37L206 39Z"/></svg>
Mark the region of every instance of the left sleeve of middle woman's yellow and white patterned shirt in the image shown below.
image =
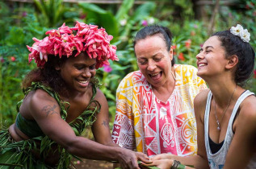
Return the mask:
<svg viewBox="0 0 256 169"><path fill-rule="evenodd" d="M116 90L115 122L112 140L121 147L135 150L134 122L132 113L132 77L124 77Z"/></svg>

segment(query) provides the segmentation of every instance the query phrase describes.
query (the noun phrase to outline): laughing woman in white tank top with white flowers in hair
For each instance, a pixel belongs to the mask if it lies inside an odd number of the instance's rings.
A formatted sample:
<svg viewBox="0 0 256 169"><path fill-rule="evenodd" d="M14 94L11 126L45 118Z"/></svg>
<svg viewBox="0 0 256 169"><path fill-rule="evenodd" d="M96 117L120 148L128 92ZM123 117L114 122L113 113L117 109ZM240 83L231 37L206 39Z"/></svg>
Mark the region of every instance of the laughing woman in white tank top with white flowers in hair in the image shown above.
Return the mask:
<svg viewBox="0 0 256 169"><path fill-rule="evenodd" d="M209 86L194 100L197 155L157 155L160 168L256 168L256 97L244 88L254 70L250 33L237 24L213 34L196 56ZM187 165L187 166L185 166Z"/></svg>

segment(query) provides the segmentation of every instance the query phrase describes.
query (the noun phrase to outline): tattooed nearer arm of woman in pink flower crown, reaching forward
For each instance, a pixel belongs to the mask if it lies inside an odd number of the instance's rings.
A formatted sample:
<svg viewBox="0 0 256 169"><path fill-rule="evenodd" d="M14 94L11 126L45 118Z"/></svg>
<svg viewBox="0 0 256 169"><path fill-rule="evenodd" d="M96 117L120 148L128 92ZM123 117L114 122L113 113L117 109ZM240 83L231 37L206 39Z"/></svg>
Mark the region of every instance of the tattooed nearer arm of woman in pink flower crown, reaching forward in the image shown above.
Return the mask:
<svg viewBox="0 0 256 169"><path fill-rule="evenodd" d="M85 159L120 160L123 162L122 167L139 168L136 155L132 151L124 151L119 147L105 146L87 138L77 137L69 124L61 118L57 101L48 93L36 90L27 104L27 109L32 112L32 116L44 134L63 146L70 154ZM99 137L97 139L99 140ZM128 158L124 159L124 157Z"/></svg>

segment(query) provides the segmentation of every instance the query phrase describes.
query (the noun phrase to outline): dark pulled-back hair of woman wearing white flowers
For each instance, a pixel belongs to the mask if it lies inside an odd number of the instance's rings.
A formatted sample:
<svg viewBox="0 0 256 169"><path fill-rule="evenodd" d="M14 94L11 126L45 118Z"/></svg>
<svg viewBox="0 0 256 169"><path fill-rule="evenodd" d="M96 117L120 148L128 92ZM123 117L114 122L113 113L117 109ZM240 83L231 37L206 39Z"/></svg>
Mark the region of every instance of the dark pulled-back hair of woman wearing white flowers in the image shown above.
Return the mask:
<svg viewBox="0 0 256 169"><path fill-rule="evenodd" d="M221 46L225 49L225 56L236 55L238 57L237 69L235 71L235 82L243 86L254 71L255 52L250 43L243 42L242 39L230 33L230 31L219 31L214 33L220 39Z"/></svg>

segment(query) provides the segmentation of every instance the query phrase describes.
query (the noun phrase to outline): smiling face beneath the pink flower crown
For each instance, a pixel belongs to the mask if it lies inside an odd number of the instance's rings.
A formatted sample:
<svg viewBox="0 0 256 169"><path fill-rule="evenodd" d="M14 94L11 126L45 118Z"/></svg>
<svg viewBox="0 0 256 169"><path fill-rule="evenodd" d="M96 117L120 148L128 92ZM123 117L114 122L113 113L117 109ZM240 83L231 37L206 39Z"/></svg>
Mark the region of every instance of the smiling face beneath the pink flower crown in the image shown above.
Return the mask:
<svg viewBox="0 0 256 169"><path fill-rule="evenodd" d="M69 92L86 92L90 79L96 74L96 60L90 59L85 53L76 57L69 57L61 66L56 69L60 71L62 79L65 81Z"/></svg>

